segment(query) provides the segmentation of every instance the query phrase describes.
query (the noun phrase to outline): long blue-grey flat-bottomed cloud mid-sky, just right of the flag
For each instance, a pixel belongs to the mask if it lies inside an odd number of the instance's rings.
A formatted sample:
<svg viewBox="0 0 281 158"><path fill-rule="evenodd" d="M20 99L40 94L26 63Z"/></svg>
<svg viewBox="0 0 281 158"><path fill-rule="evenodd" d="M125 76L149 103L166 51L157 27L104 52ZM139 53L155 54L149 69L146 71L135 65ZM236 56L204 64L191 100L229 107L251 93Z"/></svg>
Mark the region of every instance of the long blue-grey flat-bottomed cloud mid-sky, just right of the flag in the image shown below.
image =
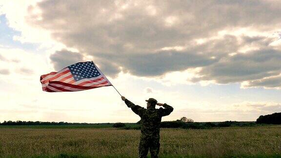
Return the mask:
<svg viewBox="0 0 281 158"><path fill-rule="evenodd" d="M191 51L161 51L154 54L99 54L101 61L112 59L123 69L136 76L160 76L170 71L181 71L210 65L217 61L208 55Z"/></svg>

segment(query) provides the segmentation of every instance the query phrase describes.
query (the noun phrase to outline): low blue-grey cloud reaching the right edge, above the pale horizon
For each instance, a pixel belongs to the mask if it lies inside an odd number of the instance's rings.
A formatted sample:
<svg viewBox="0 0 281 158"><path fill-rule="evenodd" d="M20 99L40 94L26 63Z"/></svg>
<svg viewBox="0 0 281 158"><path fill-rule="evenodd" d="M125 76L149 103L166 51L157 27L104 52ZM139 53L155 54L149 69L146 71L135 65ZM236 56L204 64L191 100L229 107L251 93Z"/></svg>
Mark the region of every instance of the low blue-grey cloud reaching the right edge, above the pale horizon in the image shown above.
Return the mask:
<svg viewBox="0 0 281 158"><path fill-rule="evenodd" d="M281 73L281 51L258 50L221 59L202 68L197 80L216 80L217 83L263 79Z"/></svg>

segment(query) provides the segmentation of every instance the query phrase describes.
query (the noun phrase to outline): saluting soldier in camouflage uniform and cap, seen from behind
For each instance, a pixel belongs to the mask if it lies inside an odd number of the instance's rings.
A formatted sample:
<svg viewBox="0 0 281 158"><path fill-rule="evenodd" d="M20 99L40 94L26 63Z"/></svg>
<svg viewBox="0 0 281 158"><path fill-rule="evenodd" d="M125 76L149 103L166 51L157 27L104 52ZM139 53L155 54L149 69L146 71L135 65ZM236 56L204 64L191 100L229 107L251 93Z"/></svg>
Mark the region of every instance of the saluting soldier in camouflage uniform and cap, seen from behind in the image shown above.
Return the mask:
<svg viewBox="0 0 281 158"><path fill-rule="evenodd" d="M141 117L141 141L139 145L139 158L146 158L148 149L151 158L158 158L160 148L160 123L163 116L169 115L174 109L166 103L157 103L156 99L150 98L147 101L147 109L135 105L125 97L121 97L126 105L132 109L134 113ZM163 106L156 109L155 105Z"/></svg>

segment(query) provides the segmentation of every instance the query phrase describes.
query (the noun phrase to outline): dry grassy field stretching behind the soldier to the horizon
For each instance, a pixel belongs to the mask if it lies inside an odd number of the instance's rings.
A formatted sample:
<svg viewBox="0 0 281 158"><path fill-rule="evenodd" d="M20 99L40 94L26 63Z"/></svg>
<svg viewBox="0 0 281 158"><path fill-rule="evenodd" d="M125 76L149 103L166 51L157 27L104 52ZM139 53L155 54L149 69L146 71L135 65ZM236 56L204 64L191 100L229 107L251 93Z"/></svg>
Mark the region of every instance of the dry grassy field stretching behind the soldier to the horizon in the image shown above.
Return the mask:
<svg viewBox="0 0 281 158"><path fill-rule="evenodd" d="M137 157L140 130L3 128L1 157ZM161 129L160 157L281 157L281 126Z"/></svg>

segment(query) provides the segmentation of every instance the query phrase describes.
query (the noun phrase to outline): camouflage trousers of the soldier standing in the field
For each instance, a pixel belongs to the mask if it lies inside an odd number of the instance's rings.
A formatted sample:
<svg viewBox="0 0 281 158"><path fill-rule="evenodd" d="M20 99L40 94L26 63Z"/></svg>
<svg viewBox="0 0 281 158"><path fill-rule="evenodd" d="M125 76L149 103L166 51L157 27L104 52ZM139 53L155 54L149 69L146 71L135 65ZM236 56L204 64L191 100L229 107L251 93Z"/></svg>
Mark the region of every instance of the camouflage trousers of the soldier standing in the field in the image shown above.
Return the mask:
<svg viewBox="0 0 281 158"><path fill-rule="evenodd" d="M139 146L139 158L146 158L148 149L150 151L151 158L158 158L160 149L160 136L143 136L141 135L141 141Z"/></svg>

